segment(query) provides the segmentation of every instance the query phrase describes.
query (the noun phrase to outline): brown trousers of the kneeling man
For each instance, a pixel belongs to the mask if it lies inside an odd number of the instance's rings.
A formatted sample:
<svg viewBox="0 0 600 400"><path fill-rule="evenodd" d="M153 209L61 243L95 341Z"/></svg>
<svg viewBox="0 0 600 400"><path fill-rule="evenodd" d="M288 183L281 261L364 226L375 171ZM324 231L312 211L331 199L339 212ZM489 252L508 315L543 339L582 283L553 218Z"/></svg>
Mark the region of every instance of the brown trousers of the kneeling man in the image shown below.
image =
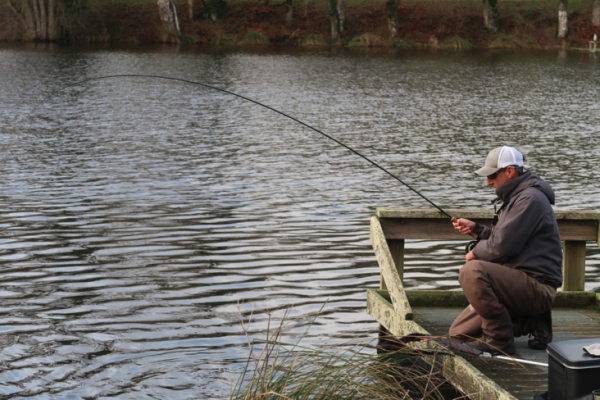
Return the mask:
<svg viewBox="0 0 600 400"><path fill-rule="evenodd" d="M530 318L552 306L556 289L523 271L487 261L463 265L458 278L470 305L450 327L458 341L481 337L510 340L531 333Z"/></svg>

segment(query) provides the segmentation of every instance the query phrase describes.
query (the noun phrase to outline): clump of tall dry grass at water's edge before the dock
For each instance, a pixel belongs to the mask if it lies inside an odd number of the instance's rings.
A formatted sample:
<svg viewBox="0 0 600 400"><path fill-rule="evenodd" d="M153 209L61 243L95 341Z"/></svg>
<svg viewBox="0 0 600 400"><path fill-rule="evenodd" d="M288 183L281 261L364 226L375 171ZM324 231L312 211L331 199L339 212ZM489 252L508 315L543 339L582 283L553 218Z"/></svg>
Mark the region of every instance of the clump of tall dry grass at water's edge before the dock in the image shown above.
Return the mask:
<svg viewBox="0 0 600 400"><path fill-rule="evenodd" d="M446 398L448 384L435 368L443 356L428 355L428 363L418 351L406 347L377 355L368 342L329 346L285 343L281 338L288 316L289 310L264 340L250 340L249 326L240 318L250 355L232 388L231 400ZM269 326L271 322L269 314Z"/></svg>

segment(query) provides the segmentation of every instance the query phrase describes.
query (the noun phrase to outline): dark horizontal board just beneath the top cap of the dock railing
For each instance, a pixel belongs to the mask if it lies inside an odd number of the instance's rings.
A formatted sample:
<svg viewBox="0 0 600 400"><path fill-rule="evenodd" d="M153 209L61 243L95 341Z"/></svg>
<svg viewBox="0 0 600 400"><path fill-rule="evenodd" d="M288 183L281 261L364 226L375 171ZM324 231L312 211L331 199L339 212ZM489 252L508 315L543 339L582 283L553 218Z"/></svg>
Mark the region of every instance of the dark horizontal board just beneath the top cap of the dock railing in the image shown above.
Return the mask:
<svg viewBox="0 0 600 400"><path fill-rule="evenodd" d="M491 227L492 219L469 218ZM598 240L597 220L557 220L562 240ZM386 239L471 240L454 229L448 218L380 218Z"/></svg>

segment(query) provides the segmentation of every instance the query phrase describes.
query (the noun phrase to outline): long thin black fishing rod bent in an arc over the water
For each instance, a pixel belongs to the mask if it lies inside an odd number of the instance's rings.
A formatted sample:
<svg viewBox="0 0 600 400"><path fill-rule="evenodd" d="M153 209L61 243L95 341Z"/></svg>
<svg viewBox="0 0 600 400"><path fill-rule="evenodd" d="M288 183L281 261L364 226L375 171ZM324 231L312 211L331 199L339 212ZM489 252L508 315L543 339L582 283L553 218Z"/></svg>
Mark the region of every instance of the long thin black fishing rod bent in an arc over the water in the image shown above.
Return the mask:
<svg viewBox="0 0 600 400"><path fill-rule="evenodd" d="M252 100L246 96L242 96L241 94L237 94L234 92L230 92L229 90L225 90L225 89L221 89L218 88L216 86L211 86L211 85L207 85L206 83L201 83L201 82L195 82L195 81L190 81L187 79L180 79L180 78L171 78L171 77L167 77L167 76L160 76L160 75L142 75L142 74L124 74L124 75L106 75L106 76L97 76L94 78L88 78L88 79L84 79L82 81L78 81L75 83L72 83L70 85L67 85L51 94L49 94L48 96L46 96L39 104L43 104L48 98L54 96L56 93L73 87L73 86L78 86L84 83L88 83L88 82L93 82L93 81L99 81L99 80L103 80L103 79L112 79L112 78L154 78L154 79L164 79L164 80L169 80L169 81L175 81L175 82L183 82L183 83L190 83L192 85L198 85L198 86L202 86L208 89L213 89L216 90L218 92L222 92L222 93L227 93L236 97L239 97L240 99L244 99L247 100L251 103L254 103L256 105L259 105L261 107L264 107L268 110L274 111L277 114L283 115L284 117L287 117L293 121L296 121L297 123L299 123L300 125L303 125L309 129L312 129L313 131L325 136L327 139L334 141L335 143L339 144L340 146L350 150L352 153L356 154L357 156L361 157L362 159L368 161L371 165L379 168L380 170L382 170L383 172L385 172L386 174L388 174L389 176L391 176L392 178L396 179L398 182L402 183L404 186L406 186L407 188L409 188L410 190L412 190L413 192L415 192L416 194L418 194L421 198L423 198L425 201L427 201L429 204L431 204L432 206L434 206L436 209L438 209L442 214L447 215L450 219L452 219L453 221L455 220L454 217L450 214L448 214L446 211L444 211L442 208L440 208L437 204L435 204L433 201L429 200L427 197L425 197L424 195L422 195L421 193L419 193L415 188L413 188L412 186L410 186L408 183L404 182L402 179L398 178L396 175L392 174L390 171L388 171L387 169L383 168L381 165L377 164L375 161L371 160L370 158L368 158L367 156L362 155L361 153L359 153L358 151L354 150L353 148L351 148L350 146L345 145L344 143L340 142L338 139L334 138L333 136L330 136L326 133L321 132L320 130L318 130L317 128L314 128L282 111L276 110L273 107L267 106L265 104L262 104L256 100ZM35 109L37 108L36 105L31 112L28 114L28 117L31 116L31 114L35 111Z"/></svg>

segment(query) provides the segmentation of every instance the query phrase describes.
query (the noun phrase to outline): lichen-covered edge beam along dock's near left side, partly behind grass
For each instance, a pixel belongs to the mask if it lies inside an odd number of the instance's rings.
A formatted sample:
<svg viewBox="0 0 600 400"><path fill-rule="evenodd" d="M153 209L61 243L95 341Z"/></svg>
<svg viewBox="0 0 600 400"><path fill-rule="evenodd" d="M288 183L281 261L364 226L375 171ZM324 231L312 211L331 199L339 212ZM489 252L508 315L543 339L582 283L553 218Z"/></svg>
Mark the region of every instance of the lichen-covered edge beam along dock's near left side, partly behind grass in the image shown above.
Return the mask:
<svg viewBox="0 0 600 400"><path fill-rule="evenodd" d="M367 311L393 335L405 336L410 333L429 334L414 321L406 321L396 315L394 307L376 291L367 291ZM426 349L442 349L433 341L415 342L415 347ZM438 356L439 357L439 356ZM424 357L431 362L432 357ZM473 400L516 400L506 390L483 375L464 358L459 356L444 357L441 363L444 378Z"/></svg>

